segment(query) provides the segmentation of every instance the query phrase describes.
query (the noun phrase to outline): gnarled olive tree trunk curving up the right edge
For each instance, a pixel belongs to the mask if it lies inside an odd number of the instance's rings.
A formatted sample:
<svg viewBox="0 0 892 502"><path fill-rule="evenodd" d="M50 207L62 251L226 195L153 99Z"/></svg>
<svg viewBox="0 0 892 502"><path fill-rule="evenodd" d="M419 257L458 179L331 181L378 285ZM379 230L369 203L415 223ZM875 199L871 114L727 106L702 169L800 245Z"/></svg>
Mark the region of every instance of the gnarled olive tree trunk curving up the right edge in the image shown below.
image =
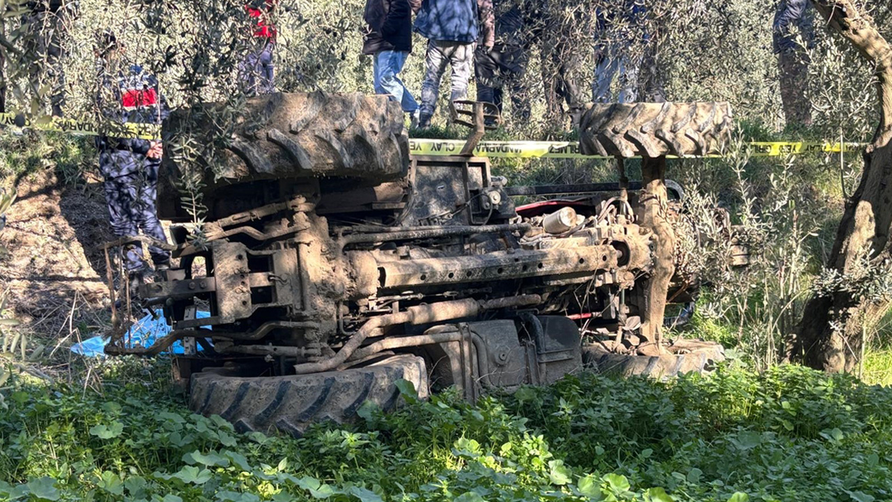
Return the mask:
<svg viewBox="0 0 892 502"><path fill-rule="evenodd" d="M855 272L868 256L871 264L888 260L892 223L892 47L877 31L871 17L851 0L812 0L831 29L855 46L875 65L880 101L880 125L864 153L861 182L847 200L836 240L830 251L831 268ZM857 290L855 288L855 290ZM789 357L815 369L851 372L861 357L864 323L879 305L838 289L812 297L805 305Z"/></svg>

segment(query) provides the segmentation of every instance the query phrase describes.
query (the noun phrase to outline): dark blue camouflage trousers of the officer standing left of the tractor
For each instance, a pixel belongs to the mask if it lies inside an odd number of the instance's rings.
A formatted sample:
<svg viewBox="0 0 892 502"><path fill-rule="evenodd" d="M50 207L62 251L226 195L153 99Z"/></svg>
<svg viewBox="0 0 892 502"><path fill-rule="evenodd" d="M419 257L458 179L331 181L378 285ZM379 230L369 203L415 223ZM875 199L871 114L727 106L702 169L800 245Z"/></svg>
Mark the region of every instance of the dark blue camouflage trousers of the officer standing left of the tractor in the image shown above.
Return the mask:
<svg viewBox="0 0 892 502"><path fill-rule="evenodd" d="M140 231L144 235L167 242L161 222L158 220L158 161L145 161L145 170L131 172L115 178L106 178L105 202L109 207L111 230L120 238L134 237ZM169 252L157 246L149 246L154 264L166 264ZM125 247L123 259L128 272L145 267L142 245Z"/></svg>

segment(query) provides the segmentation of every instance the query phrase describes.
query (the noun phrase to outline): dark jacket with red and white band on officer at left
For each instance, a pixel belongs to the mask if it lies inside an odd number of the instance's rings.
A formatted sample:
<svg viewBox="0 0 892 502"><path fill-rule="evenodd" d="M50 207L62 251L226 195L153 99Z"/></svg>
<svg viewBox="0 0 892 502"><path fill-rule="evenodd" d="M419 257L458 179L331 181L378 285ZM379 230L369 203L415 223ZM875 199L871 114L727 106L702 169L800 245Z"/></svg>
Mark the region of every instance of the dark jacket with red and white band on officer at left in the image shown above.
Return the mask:
<svg viewBox="0 0 892 502"><path fill-rule="evenodd" d="M131 64L127 71L111 77L100 68L103 89L97 101L106 120L112 123L161 125L169 108L158 88L158 79ZM152 142L142 138L96 137L99 171L105 178L117 178L143 169Z"/></svg>

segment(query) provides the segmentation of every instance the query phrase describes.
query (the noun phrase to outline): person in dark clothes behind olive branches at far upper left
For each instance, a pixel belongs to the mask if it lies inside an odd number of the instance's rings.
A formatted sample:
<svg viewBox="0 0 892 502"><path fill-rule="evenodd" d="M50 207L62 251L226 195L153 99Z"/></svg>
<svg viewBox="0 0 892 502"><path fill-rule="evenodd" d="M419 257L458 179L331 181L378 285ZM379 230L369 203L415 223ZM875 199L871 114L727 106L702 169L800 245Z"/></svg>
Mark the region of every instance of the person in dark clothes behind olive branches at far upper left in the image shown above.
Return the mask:
<svg viewBox="0 0 892 502"><path fill-rule="evenodd" d="M62 117L65 106L65 38L71 21L77 16L77 0L30 0L22 18L25 61L35 95L50 86L52 113Z"/></svg>

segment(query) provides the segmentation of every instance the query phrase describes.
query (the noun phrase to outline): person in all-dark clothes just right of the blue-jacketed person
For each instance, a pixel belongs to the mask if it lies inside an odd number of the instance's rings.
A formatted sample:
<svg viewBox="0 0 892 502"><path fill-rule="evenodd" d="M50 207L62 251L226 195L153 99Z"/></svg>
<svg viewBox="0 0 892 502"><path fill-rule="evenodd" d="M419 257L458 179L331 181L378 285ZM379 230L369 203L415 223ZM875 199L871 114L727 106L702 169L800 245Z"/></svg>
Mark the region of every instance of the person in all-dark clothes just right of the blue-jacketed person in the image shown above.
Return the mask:
<svg viewBox="0 0 892 502"><path fill-rule="evenodd" d="M523 78L533 38L528 16L534 10L529 0L524 0L523 4L512 0L494 0L495 44L491 49L477 47L474 54L477 101L492 103L502 113L504 92L508 88L514 113L521 121L528 121L531 116L528 90Z"/></svg>

